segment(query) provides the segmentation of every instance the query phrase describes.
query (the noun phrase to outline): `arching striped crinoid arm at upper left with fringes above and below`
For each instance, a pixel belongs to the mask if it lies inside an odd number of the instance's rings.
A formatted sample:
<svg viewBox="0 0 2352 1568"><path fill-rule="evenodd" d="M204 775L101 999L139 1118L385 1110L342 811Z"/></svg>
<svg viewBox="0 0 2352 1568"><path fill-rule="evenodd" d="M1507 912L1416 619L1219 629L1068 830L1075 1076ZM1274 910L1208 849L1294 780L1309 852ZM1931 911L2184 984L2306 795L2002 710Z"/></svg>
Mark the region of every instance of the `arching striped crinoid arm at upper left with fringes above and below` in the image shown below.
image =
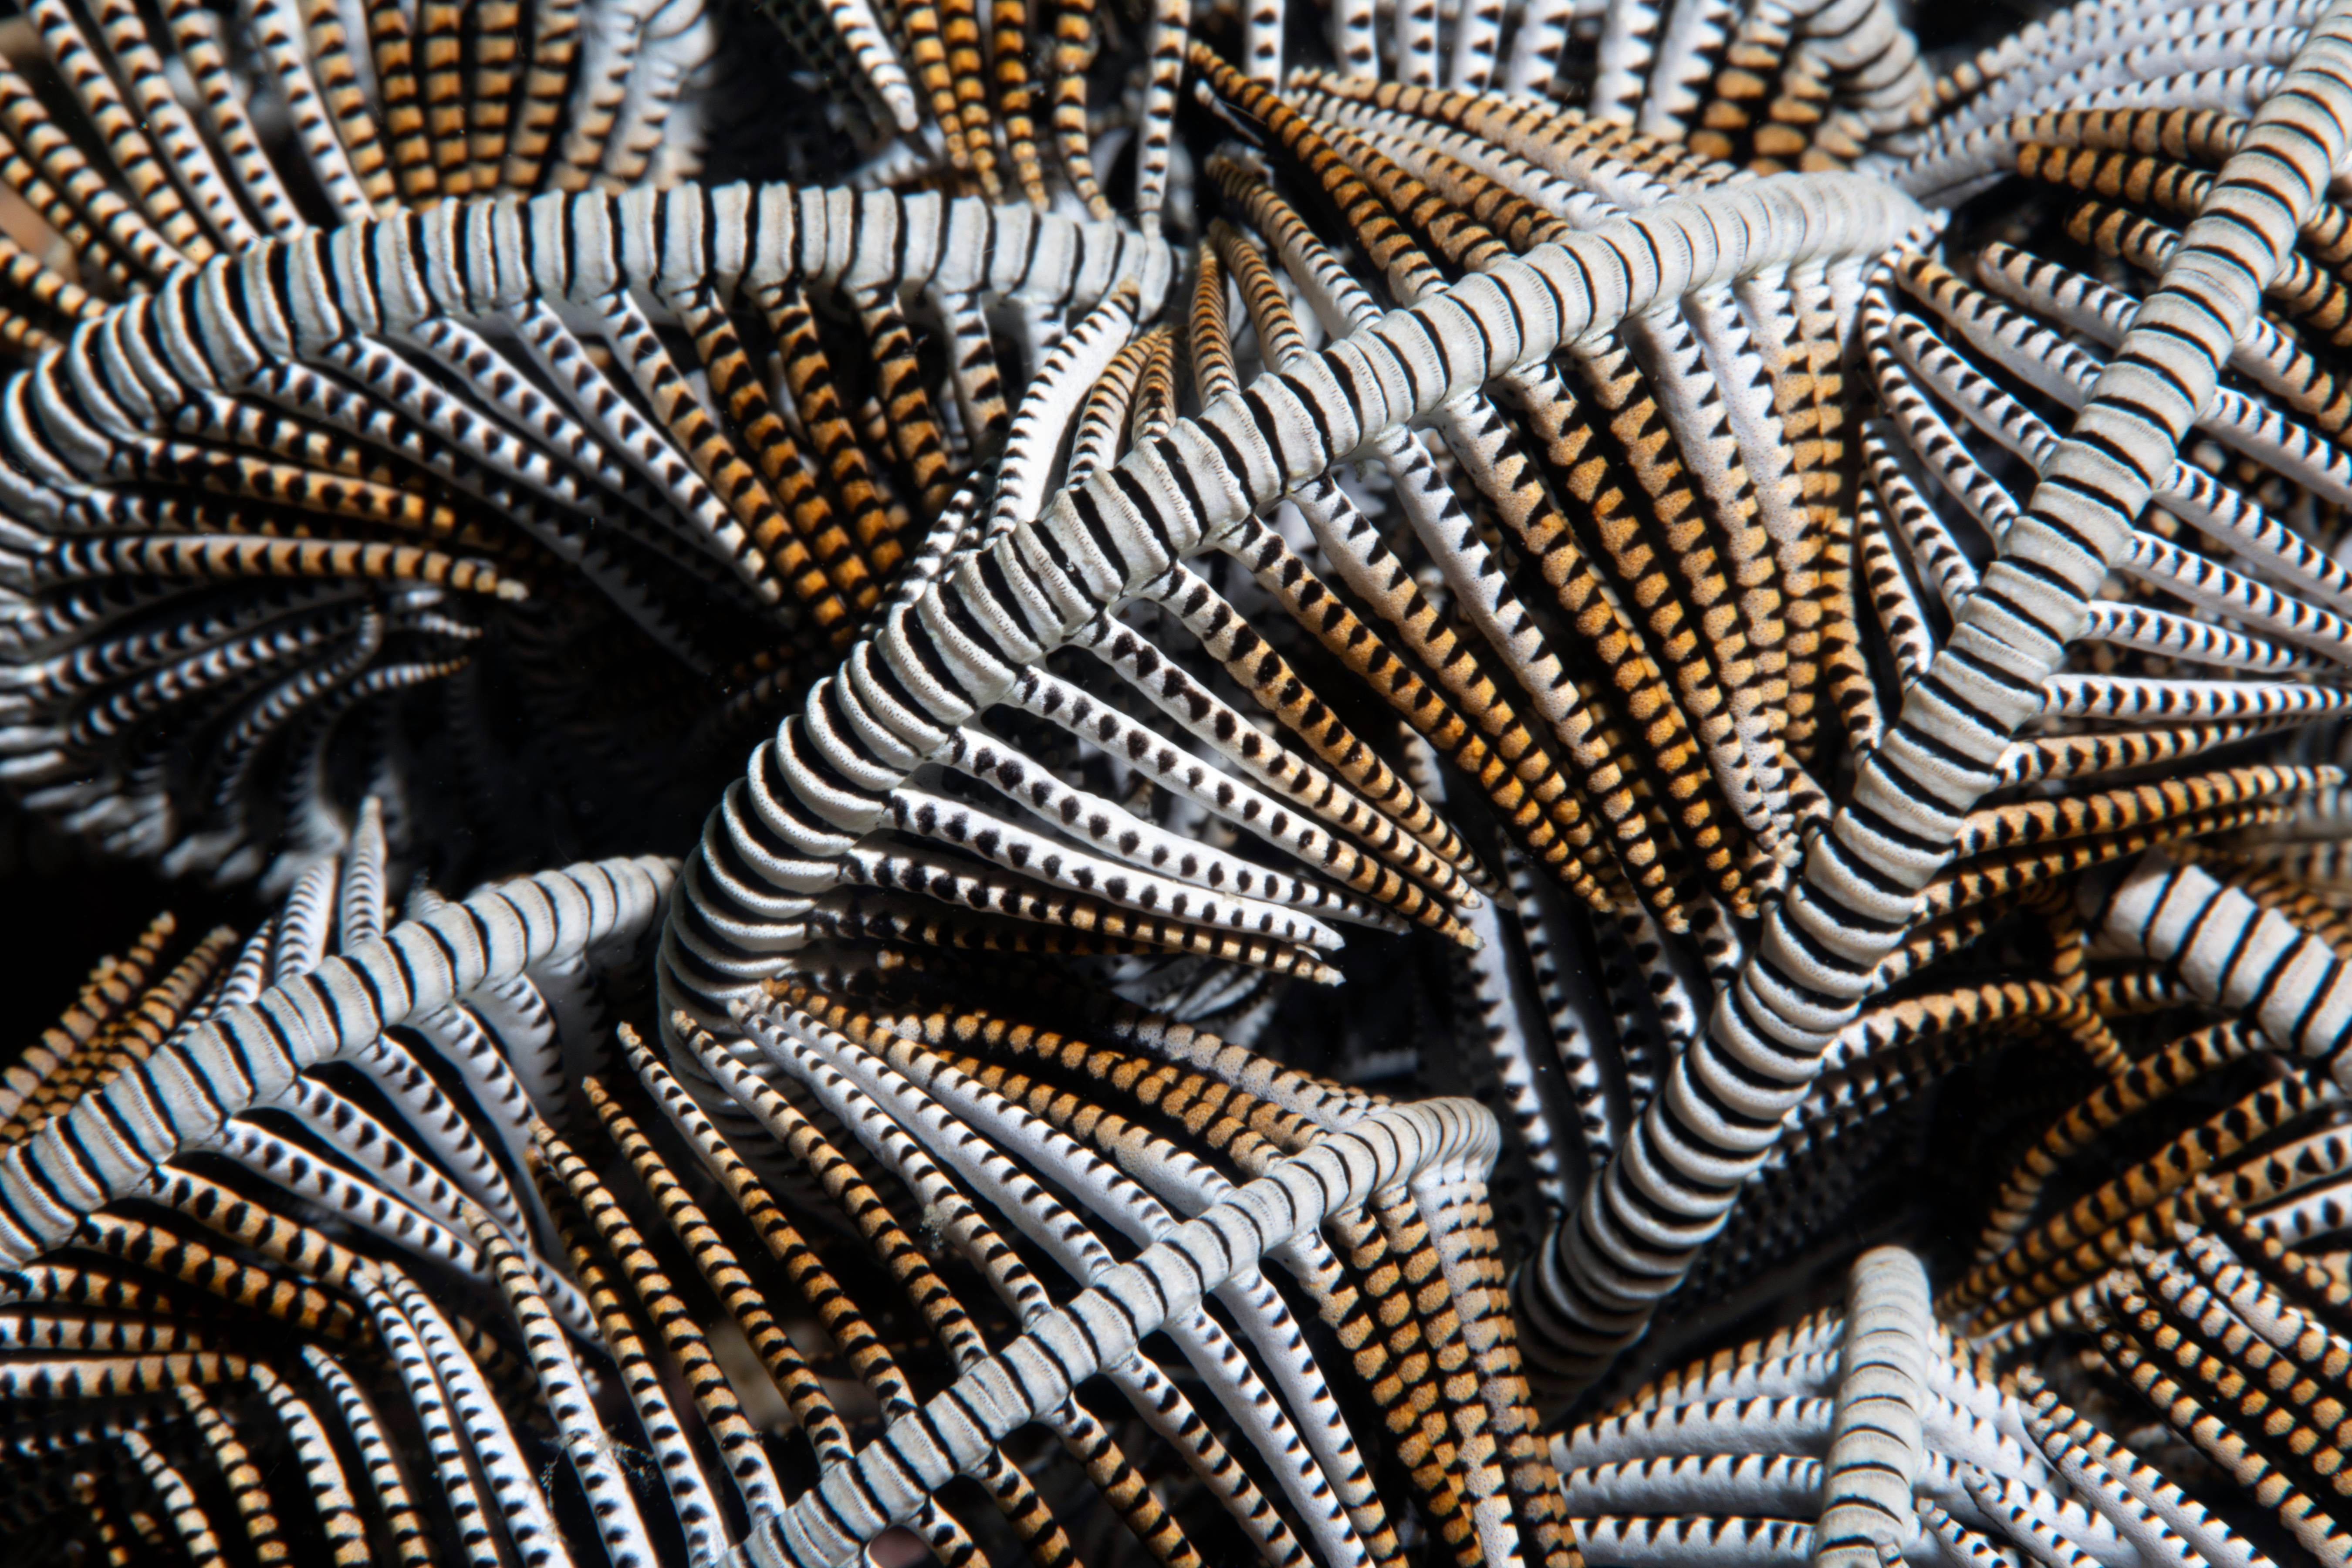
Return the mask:
<svg viewBox="0 0 2352 1568"><path fill-rule="evenodd" d="M736 712L873 614L1002 440L985 313L1051 336L1152 247L978 202L687 188L720 252L673 254L640 299L623 252L661 252L659 193L691 167L694 16L510 14L468 71L419 75L466 7L372 7L362 92L332 7L280 9L249 26L301 132L285 172L195 5L169 52L136 7L94 38L35 12L103 160L0 78L7 179L94 284L7 254L35 357L0 393L12 785L223 879L336 849L365 790L397 842L503 865L661 837ZM207 85L202 122L167 66ZM508 277L459 284L466 263ZM273 313L240 315L270 275ZM541 780L529 809L515 776Z"/></svg>

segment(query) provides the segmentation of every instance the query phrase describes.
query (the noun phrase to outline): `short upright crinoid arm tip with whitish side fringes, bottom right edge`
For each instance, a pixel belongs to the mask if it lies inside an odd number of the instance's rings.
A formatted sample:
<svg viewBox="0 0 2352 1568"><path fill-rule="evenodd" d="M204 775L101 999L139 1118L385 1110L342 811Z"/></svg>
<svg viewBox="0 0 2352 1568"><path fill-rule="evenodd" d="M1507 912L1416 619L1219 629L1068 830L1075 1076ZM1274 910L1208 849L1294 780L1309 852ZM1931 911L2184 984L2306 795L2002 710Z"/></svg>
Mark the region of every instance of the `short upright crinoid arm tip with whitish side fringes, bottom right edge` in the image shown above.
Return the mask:
<svg viewBox="0 0 2352 1568"><path fill-rule="evenodd" d="M1929 1309L1900 1248L1830 1307L1552 1439L1592 1561L2267 1563L2131 1448L2067 1446Z"/></svg>

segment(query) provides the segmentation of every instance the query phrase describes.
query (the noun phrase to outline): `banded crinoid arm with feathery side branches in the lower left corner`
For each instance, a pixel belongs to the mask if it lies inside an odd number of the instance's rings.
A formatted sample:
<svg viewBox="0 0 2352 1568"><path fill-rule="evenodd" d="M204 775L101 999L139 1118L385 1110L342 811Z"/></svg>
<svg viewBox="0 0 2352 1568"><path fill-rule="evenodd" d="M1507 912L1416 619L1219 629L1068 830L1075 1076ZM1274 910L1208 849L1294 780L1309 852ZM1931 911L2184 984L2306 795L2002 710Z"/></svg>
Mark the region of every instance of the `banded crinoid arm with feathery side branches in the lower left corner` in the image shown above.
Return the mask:
<svg viewBox="0 0 2352 1568"><path fill-rule="evenodd" d="M593 1060L600 976L642 952L668 865L456 905L419 891L428 912L400 924L388 872L369 799L341 860L252 940L221 931L169 964L143 943L26 1063L0 1128L0 1206L42 1215L0 1286L12 1476L31 1495L94 1472L132 1512L155 1486L198 1556L209 1535L282 1561L322 1533L336 1561L426 1563L440 1535L492 1563L503 1533L522 1561L564 1561L572 1483L534 1483L553 1429L612 1561L663 1561L567 1347L595 1333L590 1302L515 1194L539 1112L562 1112L557 1063ZM296 1044L303 1020L325 1048ZM146 1143L115 1140L129 1128ZM49 1237L75 1192L89 1211ZM393 1446L412 1441L405 1469Z"/></svg>

